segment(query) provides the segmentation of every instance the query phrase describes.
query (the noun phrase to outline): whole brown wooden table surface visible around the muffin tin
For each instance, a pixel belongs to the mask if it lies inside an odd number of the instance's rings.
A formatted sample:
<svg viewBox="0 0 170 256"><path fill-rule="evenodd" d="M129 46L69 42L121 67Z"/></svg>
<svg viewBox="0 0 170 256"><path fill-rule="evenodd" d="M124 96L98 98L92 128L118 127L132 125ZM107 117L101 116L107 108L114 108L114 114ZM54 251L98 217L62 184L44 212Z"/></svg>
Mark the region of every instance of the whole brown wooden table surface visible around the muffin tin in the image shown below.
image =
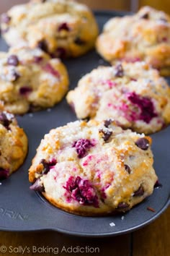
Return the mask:
<svg viewBox="0 0 170 256"><path fill-rule="evenodd" d="M0 12L4 12L10 5L19 3L19 1L24 2L26 0L1 0ZM110 7L110 9L130 9L130 1L123 0L85 0L80 2L91 4L91 7L97 7L96 9L108 9L108 7ZM76 236L66 236L65 234L54 231L24 233L0 231L0 255L169 256L169 216L170 208L156 221L143 229L134 231L131 234L113 236L105 239L87 239ZM71 249L71 247L81 247L81 250L84 250L84 252L70 252L69 249ZM95 253L92 253L93 250Z"/></svg>

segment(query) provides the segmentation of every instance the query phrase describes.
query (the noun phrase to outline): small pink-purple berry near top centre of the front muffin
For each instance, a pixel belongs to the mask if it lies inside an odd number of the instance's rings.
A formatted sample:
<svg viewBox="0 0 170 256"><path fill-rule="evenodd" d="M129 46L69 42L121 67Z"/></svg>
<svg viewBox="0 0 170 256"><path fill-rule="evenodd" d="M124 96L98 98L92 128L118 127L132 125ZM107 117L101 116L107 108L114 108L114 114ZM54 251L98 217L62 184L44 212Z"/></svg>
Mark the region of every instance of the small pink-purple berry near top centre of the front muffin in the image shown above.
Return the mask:
<svg viewBox="0 0 170 256"><path fill-rule="evenodd" d="M73 148L76 148L79 158L84 158L91 147L94 147L94 142L87 139L80 139L73 143Z"/></svg>

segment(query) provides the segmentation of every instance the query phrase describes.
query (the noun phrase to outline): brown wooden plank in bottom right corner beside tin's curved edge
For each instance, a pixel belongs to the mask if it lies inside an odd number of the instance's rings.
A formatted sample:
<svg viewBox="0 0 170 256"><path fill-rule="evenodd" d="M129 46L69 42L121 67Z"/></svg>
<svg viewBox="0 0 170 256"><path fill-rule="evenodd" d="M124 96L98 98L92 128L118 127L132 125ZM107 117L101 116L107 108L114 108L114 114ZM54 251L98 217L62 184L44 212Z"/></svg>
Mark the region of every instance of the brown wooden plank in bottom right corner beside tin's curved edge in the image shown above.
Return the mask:
<svg viewBox="0 0 170 256"><path fill-rule="evenodd" d="M170 255L170 208L156 221L133 233L133 256Z"/></svg>

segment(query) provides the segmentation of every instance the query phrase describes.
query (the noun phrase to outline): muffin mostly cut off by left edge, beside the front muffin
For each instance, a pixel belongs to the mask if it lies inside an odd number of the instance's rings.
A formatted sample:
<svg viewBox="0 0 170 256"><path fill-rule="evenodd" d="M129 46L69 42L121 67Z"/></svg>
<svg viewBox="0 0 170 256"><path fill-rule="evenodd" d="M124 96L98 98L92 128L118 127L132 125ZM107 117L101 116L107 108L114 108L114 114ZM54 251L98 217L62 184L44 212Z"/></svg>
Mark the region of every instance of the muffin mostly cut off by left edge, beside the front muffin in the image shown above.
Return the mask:
<svg viewBox="0 0 170 256"><path fill-rule="evenodd" d="M0 110L0 179L6 179L24 162L27 135L13 114Z"/></svg>

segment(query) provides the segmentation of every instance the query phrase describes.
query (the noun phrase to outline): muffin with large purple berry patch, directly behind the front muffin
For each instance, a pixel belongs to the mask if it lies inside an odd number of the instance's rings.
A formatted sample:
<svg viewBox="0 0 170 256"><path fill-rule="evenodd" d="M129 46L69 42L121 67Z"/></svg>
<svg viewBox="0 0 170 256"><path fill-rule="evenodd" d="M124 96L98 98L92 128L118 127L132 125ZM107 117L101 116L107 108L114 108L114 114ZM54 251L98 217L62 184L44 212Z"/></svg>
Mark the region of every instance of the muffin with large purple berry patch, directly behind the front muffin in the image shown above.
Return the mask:
<svg viewBox="0 0 170 256"><path fill-rule="evenodd" d="M112 118L123 128L145 134L170 122L169 85L145 62L98 67L66 98L79 119Z"/></svg>

